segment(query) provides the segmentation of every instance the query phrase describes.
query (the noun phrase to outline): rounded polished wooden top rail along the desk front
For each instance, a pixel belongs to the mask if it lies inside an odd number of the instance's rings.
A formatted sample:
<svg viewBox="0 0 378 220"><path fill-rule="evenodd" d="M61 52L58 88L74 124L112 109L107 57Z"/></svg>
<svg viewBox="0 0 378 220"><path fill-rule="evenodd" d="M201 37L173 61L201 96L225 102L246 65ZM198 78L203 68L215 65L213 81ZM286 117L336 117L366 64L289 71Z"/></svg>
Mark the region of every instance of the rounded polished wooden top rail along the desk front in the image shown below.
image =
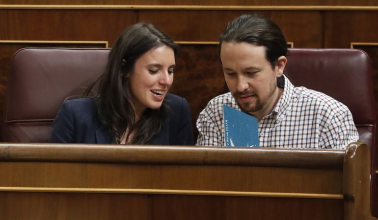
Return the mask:
<svg viewBox="0 0 378 220"><path fill-rule="evenodd" d="M0 161L224 164L342 169L344 154L344 150L282 148L0 144Z"/></svg>

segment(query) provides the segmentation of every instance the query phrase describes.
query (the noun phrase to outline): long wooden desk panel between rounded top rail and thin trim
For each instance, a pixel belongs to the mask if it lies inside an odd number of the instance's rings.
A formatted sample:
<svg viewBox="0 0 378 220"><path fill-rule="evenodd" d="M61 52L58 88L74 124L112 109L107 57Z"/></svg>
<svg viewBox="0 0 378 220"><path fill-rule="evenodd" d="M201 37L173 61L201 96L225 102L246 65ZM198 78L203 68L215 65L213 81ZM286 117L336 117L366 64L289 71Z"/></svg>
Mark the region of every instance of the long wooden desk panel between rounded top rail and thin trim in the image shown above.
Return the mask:
<svg viewBox="0 0 378 220"><path fill-rule="evenodd" d="M2 187L342 194L342 169L0 162ZM253 183L253 184L251 184ZM78 189L79 190L79 189ZM79 190L80 191L80 190Z"/></svg>

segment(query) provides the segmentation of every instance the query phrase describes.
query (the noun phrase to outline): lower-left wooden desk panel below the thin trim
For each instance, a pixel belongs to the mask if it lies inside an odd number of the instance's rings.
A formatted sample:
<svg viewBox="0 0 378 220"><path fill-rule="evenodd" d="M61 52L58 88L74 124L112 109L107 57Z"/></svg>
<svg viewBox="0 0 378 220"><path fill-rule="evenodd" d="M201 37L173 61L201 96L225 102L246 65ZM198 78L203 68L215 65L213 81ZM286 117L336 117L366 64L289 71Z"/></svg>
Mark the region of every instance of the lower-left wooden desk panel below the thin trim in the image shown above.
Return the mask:
<svg viewBox="0 0 378 220"><path fill-rule="evenodd" d="M147 195L0 192L0 220L150 220Z"/></svg>

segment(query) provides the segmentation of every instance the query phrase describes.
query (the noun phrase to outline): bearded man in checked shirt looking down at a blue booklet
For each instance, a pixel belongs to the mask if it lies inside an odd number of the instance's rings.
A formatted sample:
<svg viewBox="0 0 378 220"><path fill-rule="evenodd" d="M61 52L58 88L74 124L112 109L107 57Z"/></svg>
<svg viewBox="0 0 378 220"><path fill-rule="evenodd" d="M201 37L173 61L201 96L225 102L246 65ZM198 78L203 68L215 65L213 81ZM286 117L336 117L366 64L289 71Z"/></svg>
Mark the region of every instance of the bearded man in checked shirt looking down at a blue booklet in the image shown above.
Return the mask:
<svg viewBox="0 0 378 220"><path fill-rule="evenodd" d="M220 35L230 92L212 99L197 120L197 145L224 146L222 105L256 117L260 146L342 149L358 140L350 110L331 97L295 88L283 75L287 42L269 18L242 15Z"/></svg>

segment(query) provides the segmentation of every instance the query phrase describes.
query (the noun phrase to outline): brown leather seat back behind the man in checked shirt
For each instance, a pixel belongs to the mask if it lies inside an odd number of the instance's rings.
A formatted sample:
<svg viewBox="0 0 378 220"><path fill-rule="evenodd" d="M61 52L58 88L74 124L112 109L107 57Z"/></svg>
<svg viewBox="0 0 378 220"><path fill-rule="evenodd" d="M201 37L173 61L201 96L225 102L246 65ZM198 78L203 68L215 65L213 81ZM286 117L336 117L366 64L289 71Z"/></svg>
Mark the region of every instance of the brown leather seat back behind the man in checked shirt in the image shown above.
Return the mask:
<svg viewBox="0 0 378 220"><path fill-rule="evenodd" d="M376 110L368 55L356 49L290 49L286 75L295 86L321 91L348 106L360 135L375 152Z"/></svg>

